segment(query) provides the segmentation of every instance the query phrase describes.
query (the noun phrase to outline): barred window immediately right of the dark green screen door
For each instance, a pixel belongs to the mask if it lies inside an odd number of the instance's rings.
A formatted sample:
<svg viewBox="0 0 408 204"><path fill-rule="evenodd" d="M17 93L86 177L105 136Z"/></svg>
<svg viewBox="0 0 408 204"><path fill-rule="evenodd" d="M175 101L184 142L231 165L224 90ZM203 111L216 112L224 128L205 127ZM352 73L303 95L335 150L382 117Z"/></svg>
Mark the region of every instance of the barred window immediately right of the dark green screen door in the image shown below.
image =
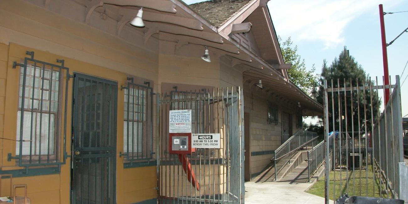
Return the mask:
<svg viewBox="0 0 408 204"><path fill-rule="evenodd" d="M127 162L153 156L153 89L128 82L124 88L123 155Z"/></svg>

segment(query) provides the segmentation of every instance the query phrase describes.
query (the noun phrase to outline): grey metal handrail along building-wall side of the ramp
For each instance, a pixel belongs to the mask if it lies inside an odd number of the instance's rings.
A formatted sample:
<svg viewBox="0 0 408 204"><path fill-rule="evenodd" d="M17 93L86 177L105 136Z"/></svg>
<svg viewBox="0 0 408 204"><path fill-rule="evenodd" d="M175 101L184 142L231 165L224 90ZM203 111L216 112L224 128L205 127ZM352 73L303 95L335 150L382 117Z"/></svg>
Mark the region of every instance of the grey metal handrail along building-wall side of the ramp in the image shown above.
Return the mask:
<svg viewBox="0 0 408 204"><path fill-rule="evenodd" d="M306 133L306 142L303 142L304 140L302 140L302 137L305 137L304 134L302 133ZM309 134L311 134L311 138L310 140L308 140ZM275 181L277 180L277 173L280 172L284 165L282 165L279 170L277 169L276 166L276 161L282 159L283 157L289 155L288 157L288 161L290 160L290 154L298 151L300 148L304 147L304 146L308 146L308 144L310 142L313 142L315 140L317 140L317 133L315 132L309 132L309 131L297 131L293 136L289 137L288 140L286 140L281 146L279 146L276 150L275 150L275 154L273 156L273 158L271 160L274 161L274 166L275 166ZM304 139L304 138L303 138ZM292 142L292 144L295 144L294 147L290 146L290 143ZM297 145L296 145L296 142ZM303 142L303 143L302 143ZM312 144L313 145L313 144ZM287 153L284 153L283 155L280 155L278 157L276 157L276 155L279 155L279 153L284 152L284 151L288 151ZM285 164L288 162L286 161Z"/></svg>

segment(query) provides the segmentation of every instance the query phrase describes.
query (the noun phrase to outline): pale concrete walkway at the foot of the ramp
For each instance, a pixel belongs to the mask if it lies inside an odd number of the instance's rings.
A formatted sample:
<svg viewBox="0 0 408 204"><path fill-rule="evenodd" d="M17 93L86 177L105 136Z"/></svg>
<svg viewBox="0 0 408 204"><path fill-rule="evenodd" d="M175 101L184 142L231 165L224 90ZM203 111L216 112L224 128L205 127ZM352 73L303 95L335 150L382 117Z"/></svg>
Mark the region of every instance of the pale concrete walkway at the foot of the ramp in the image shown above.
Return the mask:
<svg viewBox="0 0 408 204"><path fill-rule="evenodd" d="M322 204L324 198L304 191L311 183L245 182L246 204Z"/></svg>

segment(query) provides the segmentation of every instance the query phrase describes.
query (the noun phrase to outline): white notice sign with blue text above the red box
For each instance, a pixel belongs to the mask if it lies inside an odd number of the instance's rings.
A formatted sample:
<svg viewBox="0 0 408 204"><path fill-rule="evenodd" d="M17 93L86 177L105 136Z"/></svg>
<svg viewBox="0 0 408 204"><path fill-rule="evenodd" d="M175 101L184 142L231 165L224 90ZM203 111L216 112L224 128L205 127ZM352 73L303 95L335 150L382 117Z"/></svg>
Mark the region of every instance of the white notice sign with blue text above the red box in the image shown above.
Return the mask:
<svg viewBox="0 0 408 204"><path fill-rule="evenodd" d="M191 110L170 111L169 133L191 133Z"/></svg>

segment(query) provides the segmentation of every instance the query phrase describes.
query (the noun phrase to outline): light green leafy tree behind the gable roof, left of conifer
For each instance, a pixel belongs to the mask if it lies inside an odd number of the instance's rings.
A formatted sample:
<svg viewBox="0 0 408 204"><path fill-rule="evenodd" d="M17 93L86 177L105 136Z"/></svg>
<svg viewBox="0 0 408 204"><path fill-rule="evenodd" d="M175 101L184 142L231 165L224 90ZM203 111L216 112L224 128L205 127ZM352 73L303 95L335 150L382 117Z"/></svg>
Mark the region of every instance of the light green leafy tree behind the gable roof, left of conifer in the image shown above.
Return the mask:
<svg viewBox="0 0 408 204"><path fill-rule="evenodd" d="M314 74L316 70L314 64L312 69L307 70L305 60L297 54L297 45L293 47L290 37L282 41L282 38L278 36L278 41L284 62L292 64L292 68L287 70L290 81L311 96L319 80L319 75Z"/></svg>

